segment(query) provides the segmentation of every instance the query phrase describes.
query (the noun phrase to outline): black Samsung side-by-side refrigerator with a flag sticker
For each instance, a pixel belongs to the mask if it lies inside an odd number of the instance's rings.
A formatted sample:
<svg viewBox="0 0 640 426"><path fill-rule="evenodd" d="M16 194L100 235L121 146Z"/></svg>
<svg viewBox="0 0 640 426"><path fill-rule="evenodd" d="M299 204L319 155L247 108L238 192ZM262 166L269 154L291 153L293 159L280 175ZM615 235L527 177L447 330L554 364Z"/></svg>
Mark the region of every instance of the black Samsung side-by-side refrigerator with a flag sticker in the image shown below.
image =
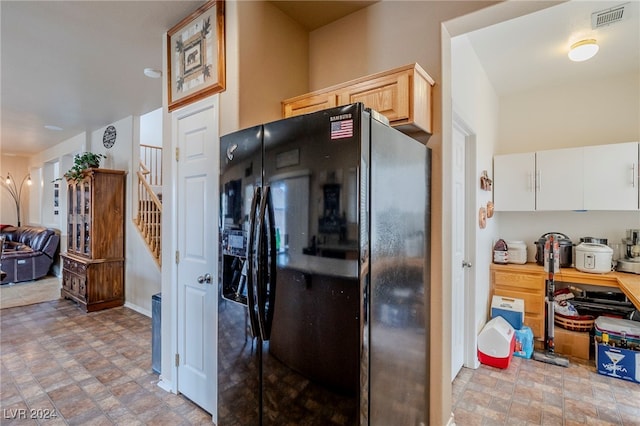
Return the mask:
<svg viewBox="0 0 640 426"><path fill-rule="evenodd" d="M430 150L361 103L220 143L217 424L428 424Z"/></svg>

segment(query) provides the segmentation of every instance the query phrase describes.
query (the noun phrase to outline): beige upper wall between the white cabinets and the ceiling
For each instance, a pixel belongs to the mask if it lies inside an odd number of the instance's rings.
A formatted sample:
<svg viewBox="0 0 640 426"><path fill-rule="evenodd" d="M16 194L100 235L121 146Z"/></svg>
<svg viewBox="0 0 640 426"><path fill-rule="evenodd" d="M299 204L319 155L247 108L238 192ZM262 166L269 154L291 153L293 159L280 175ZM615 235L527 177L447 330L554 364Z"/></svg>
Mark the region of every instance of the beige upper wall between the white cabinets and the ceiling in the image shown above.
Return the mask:
<svg viewBox="0 0 640 426"><path fill-rule="evenodd" d="M500 98L496 154L640 139L640 77L564 82Z"/></svg>

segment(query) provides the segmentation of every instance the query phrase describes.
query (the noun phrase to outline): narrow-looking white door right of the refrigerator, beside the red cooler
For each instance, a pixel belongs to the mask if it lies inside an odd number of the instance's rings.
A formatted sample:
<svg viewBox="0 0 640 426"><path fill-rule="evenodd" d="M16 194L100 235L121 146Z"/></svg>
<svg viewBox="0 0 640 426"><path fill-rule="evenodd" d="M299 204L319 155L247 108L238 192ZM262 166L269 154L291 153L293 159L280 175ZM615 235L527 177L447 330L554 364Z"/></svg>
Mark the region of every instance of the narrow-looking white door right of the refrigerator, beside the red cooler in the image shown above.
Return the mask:
<svg viewBox="0 0 640 426"><path fill-rule="evenodd" d="M451 271L451 380L455 379L464 363L465 351L465 277L469 263L465 259L465 150L466 135L456 126L452 133L453 152L453 233Z"/></svg>

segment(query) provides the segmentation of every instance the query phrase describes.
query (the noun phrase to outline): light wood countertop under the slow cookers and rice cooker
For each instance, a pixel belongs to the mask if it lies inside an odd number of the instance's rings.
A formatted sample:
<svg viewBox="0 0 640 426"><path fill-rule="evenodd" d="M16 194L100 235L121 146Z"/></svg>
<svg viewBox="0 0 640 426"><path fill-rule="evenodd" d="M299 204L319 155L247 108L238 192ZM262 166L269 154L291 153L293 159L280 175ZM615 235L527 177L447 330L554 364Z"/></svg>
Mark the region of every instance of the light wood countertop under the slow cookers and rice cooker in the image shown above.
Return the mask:
<svg viewBox="0 0 640 426"><path fill-rule="evenodd" d="M492 263L491 268L494 270L512 272L539 272L541 277L545 277L547 275L544 271L544 267L537 263L525 263L524 265L518 265L515 263L499 265ZM629 300L635 305L636 309L640 309L640 275L630 274L627 272L592 274L578 271L575 268L561 268L560 271L554 275L554 279L555 281L590 284L603 287L617 287L627 295Z"/></svg>

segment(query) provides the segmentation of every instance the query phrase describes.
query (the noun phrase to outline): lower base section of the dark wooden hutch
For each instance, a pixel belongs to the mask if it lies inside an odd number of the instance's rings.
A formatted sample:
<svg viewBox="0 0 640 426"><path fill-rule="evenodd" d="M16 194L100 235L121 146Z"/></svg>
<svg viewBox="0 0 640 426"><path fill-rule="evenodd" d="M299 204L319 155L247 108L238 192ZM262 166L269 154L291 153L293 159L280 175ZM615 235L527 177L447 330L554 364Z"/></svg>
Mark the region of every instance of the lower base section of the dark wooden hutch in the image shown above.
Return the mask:
<svg viewBox="0 0 640 426"><path fill-rule="evenodd" d="M85 312L124 304L124 259L89 260L62 255L62 297Z"/></svg>

